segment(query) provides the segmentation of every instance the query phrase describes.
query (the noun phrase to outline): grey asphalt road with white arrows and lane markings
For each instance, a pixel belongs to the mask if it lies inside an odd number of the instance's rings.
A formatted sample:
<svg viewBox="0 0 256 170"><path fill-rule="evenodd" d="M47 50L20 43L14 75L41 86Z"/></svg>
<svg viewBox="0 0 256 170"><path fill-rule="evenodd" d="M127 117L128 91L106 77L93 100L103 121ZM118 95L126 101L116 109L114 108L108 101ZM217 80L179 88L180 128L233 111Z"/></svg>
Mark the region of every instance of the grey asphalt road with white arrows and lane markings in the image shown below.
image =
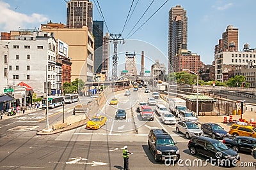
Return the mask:
<svg viewBox="0 0 256 170"><path fill-rule="evenodd" d="M128 149L134 153L129 161L130 169L226 169L226 167L213 167L210 164L204 166L207 158L191 155L187 147L189 140L175 132L175 125L162 124L157 114L152 122L142 121L140 114L135 111L137 104L140 101L147 101L151 96L151 93L146 94L143 90L139 89L138 92L131 90L131 96L116 94L119 101L117 106L106 103L102 110L95 113L108 117L106 125L97 131L79 127L51 136L36 136L36 131L45 127L45 120L31 117L39 117L43 114L42 111L36 112L39 115L24 115L24 117L29 116L30 119L15 118L0 122L0 169L122 169L124 145L128 145ZM160 102L164 101L160 99ZM74 105L70 104L70 108L67 106L67 115L72 113L72 111L68 112L72 106ZM121 108L127 111L127 120L115 120L115 112ZM61 120L61 107L50 111L52 115L56 113L49 118L50 121ZM138 125L138 134L134 131L132 111L135 115L134 121ZM20 120L26 122L19 122ZM38 122L38 120L42 121ZM28 127L24 128L24 126ZM152 153L147 148L147 135L152 128L164 128L172 135L174 141L177 141L180 159L183 162L166 166L164 162L154 161ZM239 153L239 155L243 163L256 162L248 153ZM198 167L197 164L193 166L193 162L198 161L202 161L203 168ZM255 167L237 166L230 169L255 169Z"/></svg>

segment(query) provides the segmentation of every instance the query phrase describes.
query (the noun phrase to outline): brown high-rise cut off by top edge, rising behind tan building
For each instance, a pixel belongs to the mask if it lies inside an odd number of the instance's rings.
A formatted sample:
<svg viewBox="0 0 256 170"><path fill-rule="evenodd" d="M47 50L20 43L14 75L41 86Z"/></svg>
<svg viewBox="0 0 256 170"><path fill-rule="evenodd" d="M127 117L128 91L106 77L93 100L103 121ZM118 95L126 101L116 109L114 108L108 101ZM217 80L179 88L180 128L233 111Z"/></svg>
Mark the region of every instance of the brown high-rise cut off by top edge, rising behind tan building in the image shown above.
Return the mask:
<svg viewBox="0 0 256 170"><path fill-rule="evenodd" d="M88 27L92 32L92 2L89 0L70 0L67 3L67 27L82 28Z"/></svg>

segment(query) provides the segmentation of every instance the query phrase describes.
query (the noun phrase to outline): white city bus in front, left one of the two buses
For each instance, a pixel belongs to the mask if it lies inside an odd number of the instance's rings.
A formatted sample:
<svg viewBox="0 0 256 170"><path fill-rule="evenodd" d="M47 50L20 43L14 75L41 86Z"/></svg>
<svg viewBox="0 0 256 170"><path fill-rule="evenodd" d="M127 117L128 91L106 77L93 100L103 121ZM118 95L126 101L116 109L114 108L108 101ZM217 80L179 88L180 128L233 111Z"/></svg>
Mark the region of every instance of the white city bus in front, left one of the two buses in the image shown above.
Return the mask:
<svg viewBox="0 0 256 170"><path fill-rule="evenodd" d="M48 96L49 106L48 108L56 108L58 106L63 106L64 96ZM42 108L46 108L46 97L42 99Z"/></svg>

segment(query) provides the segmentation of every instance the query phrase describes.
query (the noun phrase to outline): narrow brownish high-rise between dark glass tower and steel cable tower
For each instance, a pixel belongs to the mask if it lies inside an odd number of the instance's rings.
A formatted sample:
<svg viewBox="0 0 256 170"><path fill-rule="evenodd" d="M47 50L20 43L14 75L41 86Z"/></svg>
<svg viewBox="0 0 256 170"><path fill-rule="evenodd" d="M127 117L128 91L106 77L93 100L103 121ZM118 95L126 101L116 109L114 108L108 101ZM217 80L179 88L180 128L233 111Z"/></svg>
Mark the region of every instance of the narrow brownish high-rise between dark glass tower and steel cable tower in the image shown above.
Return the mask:
<svg viewBox="0 0 256 170"><path fill-rule="evenodd" d="M109 34L106 33L106 36L103 37L102 45L102 73L106 74L106 79L109 79Z"/></svg>

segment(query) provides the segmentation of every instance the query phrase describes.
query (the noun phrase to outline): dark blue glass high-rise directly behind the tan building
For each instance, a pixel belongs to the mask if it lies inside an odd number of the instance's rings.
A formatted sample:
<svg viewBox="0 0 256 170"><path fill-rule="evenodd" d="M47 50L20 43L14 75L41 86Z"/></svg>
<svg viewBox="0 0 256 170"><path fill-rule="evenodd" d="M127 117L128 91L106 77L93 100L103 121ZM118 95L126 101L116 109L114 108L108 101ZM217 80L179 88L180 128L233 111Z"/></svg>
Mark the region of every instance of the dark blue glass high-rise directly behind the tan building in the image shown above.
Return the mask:
<svg viewBox="0 0 256 170"><path fill-rule="evenodd" d="M94 73L102 70L103 21L93 20L92 34L94 36Z"/></svg>

